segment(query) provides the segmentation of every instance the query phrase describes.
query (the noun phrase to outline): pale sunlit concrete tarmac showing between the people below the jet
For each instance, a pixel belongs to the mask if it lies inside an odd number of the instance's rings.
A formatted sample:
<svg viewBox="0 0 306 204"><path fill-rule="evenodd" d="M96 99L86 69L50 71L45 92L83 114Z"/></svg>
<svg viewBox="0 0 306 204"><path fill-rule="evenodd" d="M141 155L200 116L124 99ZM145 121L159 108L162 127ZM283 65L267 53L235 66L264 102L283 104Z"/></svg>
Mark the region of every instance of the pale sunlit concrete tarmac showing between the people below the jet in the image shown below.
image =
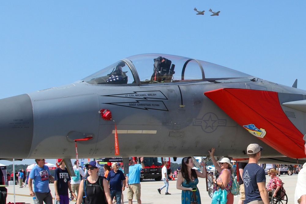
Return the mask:
<svg viewBox="0 0 306 204"><path fill-rule="evenodd" d="M270 177L266 175L266 184L270 180ZM284 188L288 196L288 204L294 203L294 191L297 183L297 175L281 175L279 178L284 183ZM162 187L163 181L155 180L143 180L141 183L141 202L142 204L159 204L159 203L181 203L181 190L176 189L176 180L169 181L168 192L171 195L165 195L166 188L162 189L161 194L158 193L157 189ZM197 185L200 191L201 202L202 203L211 203L211 198L208 196L206 191L206 181L203 178L199 178L199 184ZM51 193L54 197L54 184L49 185ZM14 202L14 186L8 186L7 188L7 198L6 203ZM126 199L126 190L123 191L124 203L128 203ZM234 203L238 203L240 195L234 196ZM28 185L24 188L19 188L18 185L15 185L15 202L24 202L24 203L33 203L32 197L29 195ZM72 204L75 204L76 201L71 201ZM133 203L137 203L133 199Z"/></svg>

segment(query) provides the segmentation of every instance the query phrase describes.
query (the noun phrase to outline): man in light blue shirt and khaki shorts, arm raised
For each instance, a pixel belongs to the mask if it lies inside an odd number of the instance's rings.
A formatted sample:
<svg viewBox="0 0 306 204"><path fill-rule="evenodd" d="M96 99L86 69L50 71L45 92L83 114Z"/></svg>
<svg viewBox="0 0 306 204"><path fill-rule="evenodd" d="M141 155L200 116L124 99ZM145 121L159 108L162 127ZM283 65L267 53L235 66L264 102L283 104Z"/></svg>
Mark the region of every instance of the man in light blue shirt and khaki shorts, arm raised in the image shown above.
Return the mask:
<svg viewBox="0 0 306 204"><path fill-rule="evenodd" d="M133 195L135 194L135 198L137 203L141 203L140 200L140 170L144 169L144 158L140 158L140 164L135 164L132 157L129 158L129 174L126 175L126 186L128 188L128 199L129 204L133 203Z"/></svg>

